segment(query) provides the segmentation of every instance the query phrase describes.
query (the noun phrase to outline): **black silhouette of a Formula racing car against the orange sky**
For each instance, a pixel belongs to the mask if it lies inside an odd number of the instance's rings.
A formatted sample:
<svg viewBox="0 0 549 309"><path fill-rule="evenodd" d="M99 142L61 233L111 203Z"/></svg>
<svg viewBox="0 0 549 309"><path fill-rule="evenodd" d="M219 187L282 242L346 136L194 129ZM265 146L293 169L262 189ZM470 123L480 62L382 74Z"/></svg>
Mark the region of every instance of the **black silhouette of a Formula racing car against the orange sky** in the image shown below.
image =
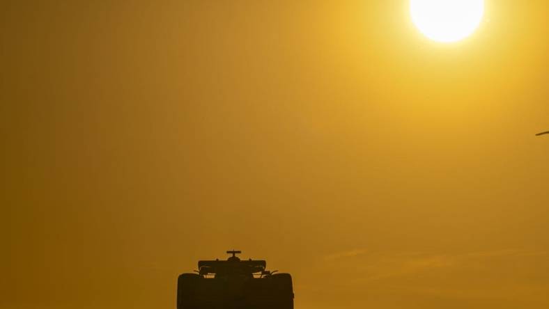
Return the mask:
<svg viewBox="0 0 549 309"><path fill-rule="evenodd" d="M265 270L264 260L199 261L198 274L181 274L177 309L293 309L290 274Z"/></svg>

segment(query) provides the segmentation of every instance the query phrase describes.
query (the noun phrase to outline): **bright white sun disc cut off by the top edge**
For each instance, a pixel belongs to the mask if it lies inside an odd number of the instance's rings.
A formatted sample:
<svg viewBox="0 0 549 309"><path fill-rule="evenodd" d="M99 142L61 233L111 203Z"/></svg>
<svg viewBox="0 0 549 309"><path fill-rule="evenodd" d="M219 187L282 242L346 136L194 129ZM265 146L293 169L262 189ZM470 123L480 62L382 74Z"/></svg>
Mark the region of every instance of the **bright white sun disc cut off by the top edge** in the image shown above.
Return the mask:
<svg viewBox="0 0 549 309"><path fill-rule="evenodd" d="M410 14L427 38L456 42L478 28L484 16L484 0L410 0Z"/></svg>

